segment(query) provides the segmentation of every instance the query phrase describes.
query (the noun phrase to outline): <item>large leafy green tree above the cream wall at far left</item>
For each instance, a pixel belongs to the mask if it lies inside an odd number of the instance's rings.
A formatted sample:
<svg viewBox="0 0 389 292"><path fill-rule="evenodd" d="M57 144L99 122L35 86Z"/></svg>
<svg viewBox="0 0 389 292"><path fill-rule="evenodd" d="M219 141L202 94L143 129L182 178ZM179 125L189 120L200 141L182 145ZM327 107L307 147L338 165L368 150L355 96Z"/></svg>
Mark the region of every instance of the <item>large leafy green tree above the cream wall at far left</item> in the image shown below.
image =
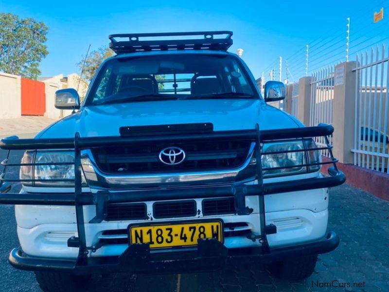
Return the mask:
<svg viewBox="0 0 389 292"><path fill-rule="evenodd" d="M36 79L39 63L49 53L47 32L34 18L0 13L0 71Z"/></svg>

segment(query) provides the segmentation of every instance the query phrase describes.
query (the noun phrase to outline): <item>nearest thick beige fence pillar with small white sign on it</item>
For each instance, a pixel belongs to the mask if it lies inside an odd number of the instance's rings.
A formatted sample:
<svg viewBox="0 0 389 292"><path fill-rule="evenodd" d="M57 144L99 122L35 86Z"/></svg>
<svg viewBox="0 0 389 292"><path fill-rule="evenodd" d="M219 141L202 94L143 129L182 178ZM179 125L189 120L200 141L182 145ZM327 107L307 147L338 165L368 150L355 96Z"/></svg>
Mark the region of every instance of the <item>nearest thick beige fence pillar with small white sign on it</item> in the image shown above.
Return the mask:
<svg viewBox="0 0 389 292"><path fill-rule="evenodd" d="M344 164L354 163L356 62L336 65L334 78L334 156Z"/></svg>

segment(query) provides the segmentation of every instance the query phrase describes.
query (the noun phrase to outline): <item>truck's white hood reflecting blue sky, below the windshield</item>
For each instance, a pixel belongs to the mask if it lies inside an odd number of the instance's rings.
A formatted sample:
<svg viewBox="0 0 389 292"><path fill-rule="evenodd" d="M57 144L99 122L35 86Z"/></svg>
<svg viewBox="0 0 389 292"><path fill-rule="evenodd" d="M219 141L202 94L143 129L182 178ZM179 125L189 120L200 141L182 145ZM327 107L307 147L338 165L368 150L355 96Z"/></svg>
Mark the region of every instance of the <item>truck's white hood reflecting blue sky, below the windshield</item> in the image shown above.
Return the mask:
<svg viewBox="0 0 389 292"><path fill-rule="evenodd" d="M291 115L260 100L172 100L83 107L41 131L36 138L118 136L124 126L212 123L215 131L297 128Z"/></svg>

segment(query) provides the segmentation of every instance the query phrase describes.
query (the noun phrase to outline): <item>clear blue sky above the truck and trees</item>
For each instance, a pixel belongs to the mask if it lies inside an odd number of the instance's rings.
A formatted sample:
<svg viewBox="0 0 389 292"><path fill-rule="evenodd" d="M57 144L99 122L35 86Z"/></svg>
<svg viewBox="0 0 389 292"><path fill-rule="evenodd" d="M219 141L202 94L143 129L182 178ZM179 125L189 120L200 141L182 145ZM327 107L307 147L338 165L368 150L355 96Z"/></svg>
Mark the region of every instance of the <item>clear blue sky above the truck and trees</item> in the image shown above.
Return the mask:
<svg viewBox="0 0 389 292"><path fill-rule="evenodd" d="M0 0L0 12L36 18L49 27L50 53L40 65L42 76L78 72L76 63L86 54L88 45L91 44L91 50L108 45L107 36L112 33L232 30L234 45L230 50L243 48L244 60L254 76L259 77L278 56L289 57L305 44L328 35L334 27L340 29L336 33L343 37L348 16L372 19L374 10L385 3L388 6L387 2ZM381 29L377 34L388 35L387 27Z"/></svg>

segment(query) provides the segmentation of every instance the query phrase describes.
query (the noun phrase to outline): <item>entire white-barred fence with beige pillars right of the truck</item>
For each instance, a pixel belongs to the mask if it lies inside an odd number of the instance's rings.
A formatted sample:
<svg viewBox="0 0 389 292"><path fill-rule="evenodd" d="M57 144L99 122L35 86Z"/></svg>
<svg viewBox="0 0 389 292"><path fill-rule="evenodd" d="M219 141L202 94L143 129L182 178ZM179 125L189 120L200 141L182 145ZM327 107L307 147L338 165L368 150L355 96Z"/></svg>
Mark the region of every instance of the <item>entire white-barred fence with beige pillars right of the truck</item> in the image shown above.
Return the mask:
<svg viewBox="0 0 389 292"><path fill-rule="evenodd" d="M389 173L388 86L389 50L382 45L288 85L287 111L306 126L334 125L329 141L340 162Z"/></svg>

